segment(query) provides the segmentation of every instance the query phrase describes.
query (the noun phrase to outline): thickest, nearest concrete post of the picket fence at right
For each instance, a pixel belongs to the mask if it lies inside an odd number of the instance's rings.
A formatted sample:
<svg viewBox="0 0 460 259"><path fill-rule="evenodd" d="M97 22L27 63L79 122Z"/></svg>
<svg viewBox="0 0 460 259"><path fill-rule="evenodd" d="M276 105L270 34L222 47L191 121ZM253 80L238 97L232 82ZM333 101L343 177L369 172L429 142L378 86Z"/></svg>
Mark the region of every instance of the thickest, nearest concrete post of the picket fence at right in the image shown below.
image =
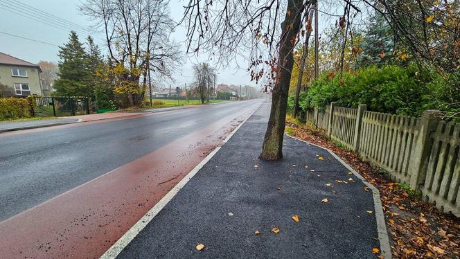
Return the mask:
<svg viewBox="0 0 460 259"><path fill-rule="evenodd" d="M423 111L418 138L414 146L414 154L409 162L410 187L418 190L418 185L425 181L428 157L431 152L430 133L436 130L436 126L443 116L443 113L436 109Z"/></svg>

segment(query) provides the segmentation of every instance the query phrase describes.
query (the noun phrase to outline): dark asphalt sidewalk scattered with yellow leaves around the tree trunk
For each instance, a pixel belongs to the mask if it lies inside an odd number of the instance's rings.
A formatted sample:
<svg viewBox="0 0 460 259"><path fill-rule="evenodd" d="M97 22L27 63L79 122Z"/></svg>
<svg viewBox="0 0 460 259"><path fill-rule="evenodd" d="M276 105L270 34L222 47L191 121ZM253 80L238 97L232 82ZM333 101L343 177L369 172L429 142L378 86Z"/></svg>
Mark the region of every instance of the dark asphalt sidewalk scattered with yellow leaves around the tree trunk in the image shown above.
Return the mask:
<svg viewBox="0 0 460 259"><path fill-rule="evenodd" d="M286 136L282 161L258 159L269 107L265 102L139 234L118 240L114 247L124 247L136 235L118 258L376 258L372 250L381 249L386 230L379 237L373 189L332 154Z"/></svg>

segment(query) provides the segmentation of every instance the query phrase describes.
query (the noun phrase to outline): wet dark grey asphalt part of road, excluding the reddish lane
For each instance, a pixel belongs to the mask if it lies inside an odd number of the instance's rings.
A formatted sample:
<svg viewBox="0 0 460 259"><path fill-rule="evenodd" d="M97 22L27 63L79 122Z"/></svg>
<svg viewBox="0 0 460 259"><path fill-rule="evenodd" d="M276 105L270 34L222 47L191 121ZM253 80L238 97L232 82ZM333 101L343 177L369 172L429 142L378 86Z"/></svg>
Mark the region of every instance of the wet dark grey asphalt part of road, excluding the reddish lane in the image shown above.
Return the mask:
<svg viewBox="0 0 460 259"><path fill-rule="evenodd" d="M0 222L260 102L0 134Z"/></svg>

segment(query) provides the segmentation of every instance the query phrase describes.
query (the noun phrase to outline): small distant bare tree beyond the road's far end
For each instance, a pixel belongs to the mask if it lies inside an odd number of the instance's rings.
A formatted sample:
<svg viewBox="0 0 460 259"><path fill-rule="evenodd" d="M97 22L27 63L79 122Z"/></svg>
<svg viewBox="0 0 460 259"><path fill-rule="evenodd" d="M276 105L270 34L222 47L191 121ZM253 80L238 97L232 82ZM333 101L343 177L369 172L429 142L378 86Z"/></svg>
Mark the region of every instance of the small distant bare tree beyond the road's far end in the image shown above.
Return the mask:
<svg viewBox="0 0 460 259"><path fill-rule="evenodd" d="M216 77L215 69L208 63L203 62L193 66L193 73L195 76L195 87L200 95L201 102L209 102L209 96L213 91L212 89Z"/></svg>

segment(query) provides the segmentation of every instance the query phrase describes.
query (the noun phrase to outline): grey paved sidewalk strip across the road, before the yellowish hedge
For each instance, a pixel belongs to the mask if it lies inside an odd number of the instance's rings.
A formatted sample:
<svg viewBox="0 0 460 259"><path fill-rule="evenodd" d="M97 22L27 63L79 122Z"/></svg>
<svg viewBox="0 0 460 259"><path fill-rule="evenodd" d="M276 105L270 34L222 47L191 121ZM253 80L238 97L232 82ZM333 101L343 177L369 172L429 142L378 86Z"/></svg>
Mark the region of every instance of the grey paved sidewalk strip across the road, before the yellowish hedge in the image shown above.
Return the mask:
<svg viewBox="0 0 460 259"><path fill-rule="evenodd" d="M37 127L51 127L69 123L77 123L78 118L47 118L43 120L24 120L24 121L3 121L0 122L0 133L11 132L14 130L28 130Z"/></svg>

